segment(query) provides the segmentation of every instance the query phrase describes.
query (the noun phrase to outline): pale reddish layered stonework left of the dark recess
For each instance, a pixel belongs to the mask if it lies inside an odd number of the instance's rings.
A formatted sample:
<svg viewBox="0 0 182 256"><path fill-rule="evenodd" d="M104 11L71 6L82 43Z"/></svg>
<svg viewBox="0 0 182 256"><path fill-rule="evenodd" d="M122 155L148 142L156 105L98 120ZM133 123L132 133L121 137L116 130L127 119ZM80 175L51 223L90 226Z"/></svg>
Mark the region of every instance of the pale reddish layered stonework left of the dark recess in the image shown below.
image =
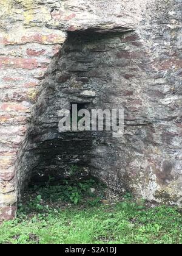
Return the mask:
<svg viewBox="0 0 182 256"><path fill-rule="evenodd" d="M66 40L48 29L51 10L59 1L0 2L0 215L12 218L17 201L16 160L27 131L27 120L38 97L41 79Z"/></svg>

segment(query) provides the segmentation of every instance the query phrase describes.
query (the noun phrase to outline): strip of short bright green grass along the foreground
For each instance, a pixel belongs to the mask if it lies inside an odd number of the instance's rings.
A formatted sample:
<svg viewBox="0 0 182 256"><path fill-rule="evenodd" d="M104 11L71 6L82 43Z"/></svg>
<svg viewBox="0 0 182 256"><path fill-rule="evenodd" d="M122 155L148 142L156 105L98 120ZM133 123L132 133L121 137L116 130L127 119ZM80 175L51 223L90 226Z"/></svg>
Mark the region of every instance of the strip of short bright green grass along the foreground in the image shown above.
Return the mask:
<svg viewBox="0 0 182 256"><path fill-rule="evenodd" d="M27 208L21 206L15 221L1 224L0 243L182 243L182 218L175 207L145 208L126 201L84 208L31 206L29 214Z"/></svg>

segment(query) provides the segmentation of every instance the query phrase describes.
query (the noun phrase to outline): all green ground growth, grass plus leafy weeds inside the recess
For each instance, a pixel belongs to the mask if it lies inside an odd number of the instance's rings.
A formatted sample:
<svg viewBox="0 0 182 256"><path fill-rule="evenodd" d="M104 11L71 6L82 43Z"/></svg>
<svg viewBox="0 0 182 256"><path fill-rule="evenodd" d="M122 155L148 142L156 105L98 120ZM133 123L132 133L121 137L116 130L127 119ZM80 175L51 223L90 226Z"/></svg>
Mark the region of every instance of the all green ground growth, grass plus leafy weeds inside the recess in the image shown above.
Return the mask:
<svg viewBox="0 0 182 256"><path fill-rule="evenodd" d="M34 188L19 205L18 218L1 224L0 243L182 243L177 207L152 208L129 194L112 204L98 196L93 180L69 187Z"/></svg>

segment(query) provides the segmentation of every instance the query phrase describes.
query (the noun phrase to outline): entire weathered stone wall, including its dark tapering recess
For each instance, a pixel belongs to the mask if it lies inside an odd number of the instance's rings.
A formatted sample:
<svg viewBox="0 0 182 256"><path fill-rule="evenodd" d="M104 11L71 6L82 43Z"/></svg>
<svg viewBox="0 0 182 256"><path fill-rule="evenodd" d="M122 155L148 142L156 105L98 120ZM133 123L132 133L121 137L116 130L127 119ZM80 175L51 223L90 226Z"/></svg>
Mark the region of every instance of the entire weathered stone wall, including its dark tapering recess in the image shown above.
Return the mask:
<svg viewBox="0 0 182 256"><path fill-rule="evenodd" d="M2 0L0 218L72 165L115 191L182 197L181 1ZM64 46L62 47L62 44ZM61 108L124 107L124 136L58 132Z"/></svg>

